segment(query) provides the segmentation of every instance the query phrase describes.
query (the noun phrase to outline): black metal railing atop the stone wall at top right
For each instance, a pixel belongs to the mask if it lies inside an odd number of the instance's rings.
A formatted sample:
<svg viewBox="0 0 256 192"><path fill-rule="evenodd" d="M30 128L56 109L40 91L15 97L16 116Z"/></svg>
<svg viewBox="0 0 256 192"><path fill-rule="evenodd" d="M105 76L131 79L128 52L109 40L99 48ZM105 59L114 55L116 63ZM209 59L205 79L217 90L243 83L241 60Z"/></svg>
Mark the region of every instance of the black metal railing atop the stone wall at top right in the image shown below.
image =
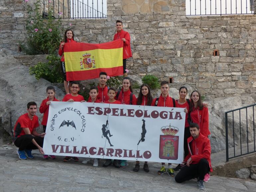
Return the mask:
<svg viewBox="0 0 256 192"><path fill-rule="evenodd" d="M254 14L253 0L186 0L187 16Z"/></svg>

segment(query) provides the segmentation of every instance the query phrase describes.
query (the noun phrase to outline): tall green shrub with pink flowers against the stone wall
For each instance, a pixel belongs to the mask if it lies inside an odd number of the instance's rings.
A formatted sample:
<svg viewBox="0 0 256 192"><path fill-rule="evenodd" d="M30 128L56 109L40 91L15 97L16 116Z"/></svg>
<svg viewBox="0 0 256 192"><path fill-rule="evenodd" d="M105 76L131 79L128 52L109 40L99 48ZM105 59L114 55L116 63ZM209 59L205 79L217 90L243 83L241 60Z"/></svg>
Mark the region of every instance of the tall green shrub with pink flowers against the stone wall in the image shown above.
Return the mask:
<svg viewBox="0 0 256 192"><path fill-rule="evenodd" d="M27 37L25 45L21 45L27 54L53 54L62 39L61 21L53 16L53 6L50 4L48 15L43 18L40 4L41 1L37 0L34 10L28 5Z"/></svg>

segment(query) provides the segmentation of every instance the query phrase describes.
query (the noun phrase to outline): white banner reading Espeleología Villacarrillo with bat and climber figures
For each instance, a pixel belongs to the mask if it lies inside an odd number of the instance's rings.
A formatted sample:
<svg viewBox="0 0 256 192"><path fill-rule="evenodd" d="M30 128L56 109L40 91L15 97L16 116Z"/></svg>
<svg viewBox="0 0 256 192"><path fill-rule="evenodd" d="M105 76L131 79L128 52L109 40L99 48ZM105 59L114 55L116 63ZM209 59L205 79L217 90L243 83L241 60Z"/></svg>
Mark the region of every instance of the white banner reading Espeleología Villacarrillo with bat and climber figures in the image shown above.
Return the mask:
<svg viewBox="0 0 256 192"><path fill-rule="evenodd" d="M45 154L181 163L184 108L51 102Z"/></svg>

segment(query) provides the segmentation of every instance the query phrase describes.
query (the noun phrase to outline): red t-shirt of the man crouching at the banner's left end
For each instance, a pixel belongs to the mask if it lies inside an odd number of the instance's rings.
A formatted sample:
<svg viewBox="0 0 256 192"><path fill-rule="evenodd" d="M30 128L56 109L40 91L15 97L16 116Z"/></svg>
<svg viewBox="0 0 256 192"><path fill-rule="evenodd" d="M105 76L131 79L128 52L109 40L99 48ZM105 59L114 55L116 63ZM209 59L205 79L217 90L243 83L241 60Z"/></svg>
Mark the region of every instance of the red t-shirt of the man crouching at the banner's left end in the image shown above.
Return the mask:
<svg viewBox="0 0 256 192"><path fill-rule="evenodd" d="M34 115L32 120L29 118L28 113L20 116L14 126L14 141L20 136L26 135L23 128L29 128L30 133L32 133L33 130L37 127L39 127L39 123L38 117L36 115Z"/></svg>

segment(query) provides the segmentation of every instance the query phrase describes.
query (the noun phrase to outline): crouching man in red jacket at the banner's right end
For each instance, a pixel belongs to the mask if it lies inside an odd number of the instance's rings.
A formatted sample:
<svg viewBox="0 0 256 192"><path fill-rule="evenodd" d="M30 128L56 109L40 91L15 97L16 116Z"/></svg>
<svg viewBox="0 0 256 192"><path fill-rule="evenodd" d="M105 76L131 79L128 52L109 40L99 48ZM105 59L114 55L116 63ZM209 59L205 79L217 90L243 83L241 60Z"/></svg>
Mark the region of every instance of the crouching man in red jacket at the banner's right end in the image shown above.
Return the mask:
<svg viewBox="0 0 256 192"><path fill-rule="evenodd" d="M182 183L195 177L198 178L197 183L200 190L205 190L203 179L208 172L212 172L211 168L211 145L210 140L200 134L198 124L190 125L191 137L188 138L189 154L185 157L183 163L185 165L176 175L175 181Z"/></svg>

